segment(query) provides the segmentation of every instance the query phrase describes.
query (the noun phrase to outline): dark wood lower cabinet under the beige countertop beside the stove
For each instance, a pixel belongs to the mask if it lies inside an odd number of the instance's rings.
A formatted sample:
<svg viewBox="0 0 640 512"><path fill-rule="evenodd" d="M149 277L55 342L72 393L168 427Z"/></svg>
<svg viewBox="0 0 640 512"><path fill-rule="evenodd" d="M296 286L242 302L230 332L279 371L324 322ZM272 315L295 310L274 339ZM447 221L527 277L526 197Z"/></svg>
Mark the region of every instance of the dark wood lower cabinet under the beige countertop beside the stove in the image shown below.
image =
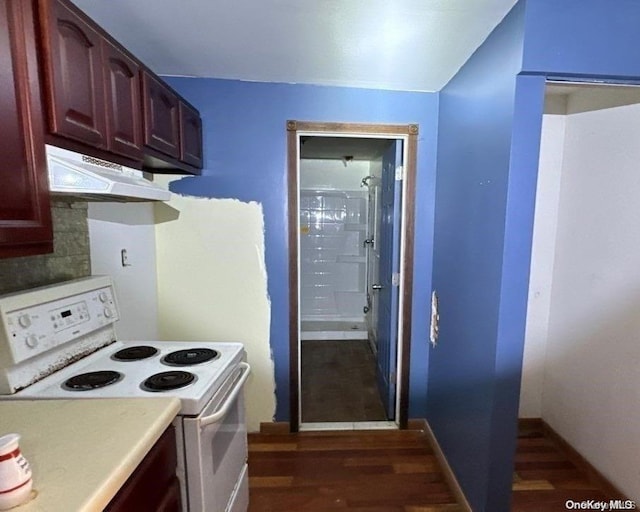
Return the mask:
<svg viewBox="0 0 640 512"><path fill-rule="evenodd" d="M177 460L176 436L169 427L105 512L181 512Z"/></svg>

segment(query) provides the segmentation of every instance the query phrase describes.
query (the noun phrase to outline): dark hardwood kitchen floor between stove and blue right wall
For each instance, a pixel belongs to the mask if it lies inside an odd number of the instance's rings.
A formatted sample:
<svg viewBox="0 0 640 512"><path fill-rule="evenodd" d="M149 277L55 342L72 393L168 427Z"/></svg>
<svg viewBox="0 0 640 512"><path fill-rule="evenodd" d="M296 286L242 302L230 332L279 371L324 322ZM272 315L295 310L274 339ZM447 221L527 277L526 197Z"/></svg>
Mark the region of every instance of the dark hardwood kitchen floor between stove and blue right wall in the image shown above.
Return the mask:
<svg viewBox="0 0 640 512"><path fill-rule="evenodd" d="M460 512L420 431L250 434L249 512Z"/></svg>

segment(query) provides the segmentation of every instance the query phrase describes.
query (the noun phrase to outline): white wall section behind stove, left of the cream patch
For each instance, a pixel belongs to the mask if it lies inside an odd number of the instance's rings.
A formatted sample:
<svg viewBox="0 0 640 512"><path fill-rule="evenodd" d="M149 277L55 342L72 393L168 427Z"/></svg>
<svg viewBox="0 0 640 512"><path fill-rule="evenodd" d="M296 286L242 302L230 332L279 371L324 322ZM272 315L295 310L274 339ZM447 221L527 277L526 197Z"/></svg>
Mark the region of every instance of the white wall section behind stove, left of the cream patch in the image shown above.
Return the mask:
<svg viewBox="0 0 640 512"><path fill-rule="evenodd" d="M122 340L158 339L155 225L151 203L89 203L91 272L113 277ZM123 267L126 249L129 266Z"/></svg>

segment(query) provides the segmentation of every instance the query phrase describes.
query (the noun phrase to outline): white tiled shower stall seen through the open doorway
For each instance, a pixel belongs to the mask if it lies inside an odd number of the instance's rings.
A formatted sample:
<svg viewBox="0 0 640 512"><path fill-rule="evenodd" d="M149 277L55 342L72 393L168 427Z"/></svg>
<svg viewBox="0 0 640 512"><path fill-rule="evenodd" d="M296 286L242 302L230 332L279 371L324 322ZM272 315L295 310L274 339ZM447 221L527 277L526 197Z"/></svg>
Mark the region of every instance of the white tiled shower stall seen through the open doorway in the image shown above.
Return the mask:
<svg viewBox="0 0 640 512"><path fill-rule="evenodd" d="M369 339L371 165L301 161L302 340Z"/></svg>

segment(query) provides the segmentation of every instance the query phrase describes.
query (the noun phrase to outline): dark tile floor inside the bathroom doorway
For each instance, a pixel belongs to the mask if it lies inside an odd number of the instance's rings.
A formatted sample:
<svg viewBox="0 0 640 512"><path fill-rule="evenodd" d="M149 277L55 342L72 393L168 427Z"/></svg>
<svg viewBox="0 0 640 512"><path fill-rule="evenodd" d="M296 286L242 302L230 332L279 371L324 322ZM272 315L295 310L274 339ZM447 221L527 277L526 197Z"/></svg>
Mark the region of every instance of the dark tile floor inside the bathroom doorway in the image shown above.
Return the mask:
<svg viewBox="0 0 640 512"><path fill-rule="evenodd" d="M367 340L301 343L303 423L386 421Z"/></svg>

